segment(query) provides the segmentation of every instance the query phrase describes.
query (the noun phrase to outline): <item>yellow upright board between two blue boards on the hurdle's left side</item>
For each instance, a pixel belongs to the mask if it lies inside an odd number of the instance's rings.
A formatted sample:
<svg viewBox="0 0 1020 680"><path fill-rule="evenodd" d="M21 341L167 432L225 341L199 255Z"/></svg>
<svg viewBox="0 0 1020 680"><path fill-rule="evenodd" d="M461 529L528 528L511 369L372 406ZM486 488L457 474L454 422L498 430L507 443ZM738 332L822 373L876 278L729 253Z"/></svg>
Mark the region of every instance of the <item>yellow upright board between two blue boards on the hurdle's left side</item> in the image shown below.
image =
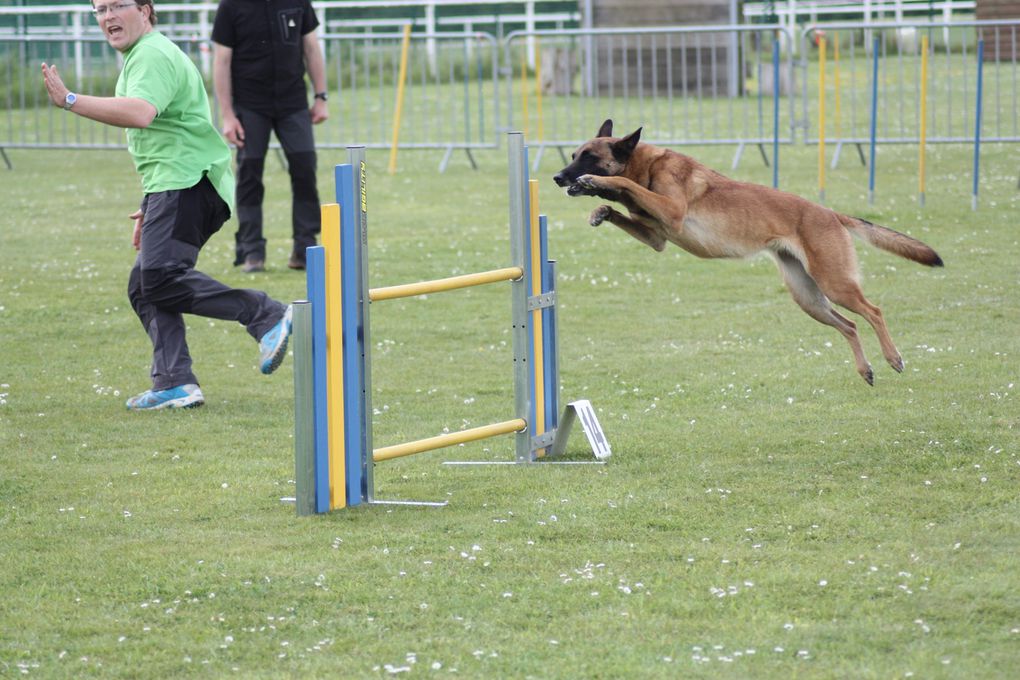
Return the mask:
<svg viewBox="0 0 1020 680"><path fill-rule="evenodd" d="M325 384L326 442L329 456L329 509L347 506L344 447L344 334L341 296L340 206L321 207L325 250Z"/></svg>

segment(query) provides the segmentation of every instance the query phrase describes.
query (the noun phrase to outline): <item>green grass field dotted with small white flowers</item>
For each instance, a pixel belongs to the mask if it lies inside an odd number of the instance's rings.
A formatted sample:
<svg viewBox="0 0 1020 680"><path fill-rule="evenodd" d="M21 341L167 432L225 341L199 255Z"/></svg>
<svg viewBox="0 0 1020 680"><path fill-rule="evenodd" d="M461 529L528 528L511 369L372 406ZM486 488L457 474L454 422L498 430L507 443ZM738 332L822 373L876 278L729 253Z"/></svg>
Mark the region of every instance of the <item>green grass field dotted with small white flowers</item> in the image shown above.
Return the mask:
<svg viewBox="0 0 1020 680"><path fill-rule="evenodd" d="M598 126L601 118L585 125ZM621 129L642 124L618 120ZM727 171L731 149L692 149ZM782 188L817 193L814 147ZM207 405L133 414L149 341L126 300L124 152L9 151L0 169L0 676L46 678L1009 678L1020 655L1020 193L1015 146L845 155L836 209L931 244L945 269L859 246L907 368L869 387L767 259L656 254L540 179L559 261L565 401L595 404L607 465L509 461L501 437L389 461L384 499L297 518L293 366L191 318ZM371 284L509 260L505 150L480 169L370 152ZM334 163L320 155L320 192ZM853 162L852 162L853 161ZM267 165L269 270L200 268L303 297L289 192ZM769 182L753 154L729 174ZM505 286L372 310L375 443L511 417ZM586 460L575 434L570 460Z"/></svg>

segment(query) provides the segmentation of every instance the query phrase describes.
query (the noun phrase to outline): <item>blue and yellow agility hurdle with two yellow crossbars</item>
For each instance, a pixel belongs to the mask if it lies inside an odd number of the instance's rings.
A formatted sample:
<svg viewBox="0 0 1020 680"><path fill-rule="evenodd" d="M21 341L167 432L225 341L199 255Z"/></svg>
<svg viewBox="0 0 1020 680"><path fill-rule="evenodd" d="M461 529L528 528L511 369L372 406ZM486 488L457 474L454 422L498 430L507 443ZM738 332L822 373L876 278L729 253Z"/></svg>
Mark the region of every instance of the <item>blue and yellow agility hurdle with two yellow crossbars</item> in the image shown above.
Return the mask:
<svg viewBox="0 0 1020 680"><path fill-rule="evenodd" d="M368 287L368 207L364 147L349 147L336 168L337 203L322 206L322 245L307 251L307 301L294 304L295 469L299 515L384 502L375 499L380 461L514 434L514 464L556 458L580 420L593 452L610 455L591 404L559 412L556 262L538 181L527 176L520 133L508 136L511 266L387 287ZM491 425L373 448L371 304L510 281L513 417ZM418 504L414 505L445 505Z"/></svg>

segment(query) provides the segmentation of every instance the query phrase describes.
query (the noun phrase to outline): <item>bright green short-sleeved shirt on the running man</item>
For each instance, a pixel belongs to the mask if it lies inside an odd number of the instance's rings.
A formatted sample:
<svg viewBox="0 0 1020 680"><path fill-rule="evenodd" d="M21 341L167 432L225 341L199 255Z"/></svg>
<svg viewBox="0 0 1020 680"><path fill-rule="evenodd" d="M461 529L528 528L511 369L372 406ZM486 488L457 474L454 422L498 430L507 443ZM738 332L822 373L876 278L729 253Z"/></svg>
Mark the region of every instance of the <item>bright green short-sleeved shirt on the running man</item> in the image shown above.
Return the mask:
<svg viewBox="0 0 1020 680"><path fill-rule="evenodd" d="M212 124L209 98L198 68L166 36L150 31L124 53L117 97L156 107L145 128L128 128L128 150L146 194L194 187L208 174L234 210L231 149Z"/></svg>

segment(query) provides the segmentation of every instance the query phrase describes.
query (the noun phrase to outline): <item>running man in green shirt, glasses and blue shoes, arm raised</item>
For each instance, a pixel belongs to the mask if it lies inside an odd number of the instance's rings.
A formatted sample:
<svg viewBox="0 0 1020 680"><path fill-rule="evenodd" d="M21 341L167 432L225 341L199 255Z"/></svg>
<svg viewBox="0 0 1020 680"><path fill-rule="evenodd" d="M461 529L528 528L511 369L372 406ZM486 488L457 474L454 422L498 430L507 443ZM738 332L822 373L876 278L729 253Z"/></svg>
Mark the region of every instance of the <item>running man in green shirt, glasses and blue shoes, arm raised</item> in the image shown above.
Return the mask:
<svg viewBox="0 0 1020 680"><path fill-rule="evenodd" d="M152 341L152 388L128 400L128 408L201 406L183 314L244 324L259 343L260 370L268 374L286 356L291 308L261 291L232 289L196 271L199 251L233 209L230 149L212 124L198 68L154 30L152 0L96 2L100 29L123 55L115 96L72 93L45 63L43 82L55 106L126 128L142 176L142 205L131 215L138 258L128 296Z"/></svg>

